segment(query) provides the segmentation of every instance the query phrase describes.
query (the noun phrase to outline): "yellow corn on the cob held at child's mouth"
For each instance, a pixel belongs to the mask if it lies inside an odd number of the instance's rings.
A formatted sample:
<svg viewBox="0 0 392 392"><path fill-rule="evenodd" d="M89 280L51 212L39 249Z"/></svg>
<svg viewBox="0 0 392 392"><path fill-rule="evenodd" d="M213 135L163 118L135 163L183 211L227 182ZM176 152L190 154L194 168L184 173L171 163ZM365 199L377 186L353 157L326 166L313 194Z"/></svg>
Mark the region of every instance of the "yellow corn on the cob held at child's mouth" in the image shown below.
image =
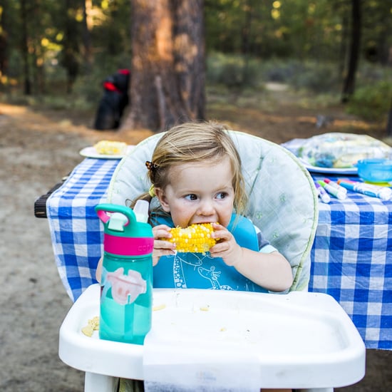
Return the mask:
<svg viewBox="0 0 392 392"><path fill-rule="evenodd" d="M176 244L177 252L205 253L216 243L211 237L213 231L211 223L190 225L185 229L175 227L170 229L172 237L168 240Z"/></svg>

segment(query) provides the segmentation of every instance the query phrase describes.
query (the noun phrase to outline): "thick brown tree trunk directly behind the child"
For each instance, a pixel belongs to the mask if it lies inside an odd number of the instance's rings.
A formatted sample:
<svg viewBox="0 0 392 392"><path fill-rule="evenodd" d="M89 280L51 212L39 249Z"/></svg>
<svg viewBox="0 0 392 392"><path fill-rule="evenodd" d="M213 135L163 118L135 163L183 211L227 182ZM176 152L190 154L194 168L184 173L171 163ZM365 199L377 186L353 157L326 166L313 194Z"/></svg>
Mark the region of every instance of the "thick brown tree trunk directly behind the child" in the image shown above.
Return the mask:
<svg viewBox="0 0 392 392"><path fill-rule="evenodd" d="M165 130L204 118L203 0L131 0L127 128Z"/></svg>

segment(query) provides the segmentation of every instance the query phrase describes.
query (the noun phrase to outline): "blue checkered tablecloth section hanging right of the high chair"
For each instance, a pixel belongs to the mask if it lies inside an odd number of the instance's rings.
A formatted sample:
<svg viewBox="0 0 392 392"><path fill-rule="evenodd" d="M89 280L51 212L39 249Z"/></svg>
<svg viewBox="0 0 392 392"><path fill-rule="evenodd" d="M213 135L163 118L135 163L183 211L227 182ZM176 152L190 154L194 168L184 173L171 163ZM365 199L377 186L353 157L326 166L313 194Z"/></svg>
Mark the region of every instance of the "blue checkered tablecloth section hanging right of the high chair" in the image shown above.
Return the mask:
<svg viewBox="0 0 392 392"><path fill-rule="evenodd" d="M334 296L368 349L392 349L392 200L348 191L319 203L309 291Z"/></svg>

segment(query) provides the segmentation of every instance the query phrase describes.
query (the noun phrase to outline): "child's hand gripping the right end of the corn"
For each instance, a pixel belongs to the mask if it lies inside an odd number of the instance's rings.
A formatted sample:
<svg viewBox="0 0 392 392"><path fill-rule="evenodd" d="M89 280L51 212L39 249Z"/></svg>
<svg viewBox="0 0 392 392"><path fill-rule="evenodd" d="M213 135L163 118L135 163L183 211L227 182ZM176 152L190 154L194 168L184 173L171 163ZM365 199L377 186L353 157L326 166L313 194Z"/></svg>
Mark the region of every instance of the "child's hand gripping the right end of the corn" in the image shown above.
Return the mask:
<svg viewBox="0 0 392 392"><path fill-rule="evenodd" d="M242 259L242 248L237 244L234 236L225 226L219 223L213 223L214 233L212 236L217 240L217 243L210 249L212 257L222 257L223 261L229 265L234 266Z"/></svg>

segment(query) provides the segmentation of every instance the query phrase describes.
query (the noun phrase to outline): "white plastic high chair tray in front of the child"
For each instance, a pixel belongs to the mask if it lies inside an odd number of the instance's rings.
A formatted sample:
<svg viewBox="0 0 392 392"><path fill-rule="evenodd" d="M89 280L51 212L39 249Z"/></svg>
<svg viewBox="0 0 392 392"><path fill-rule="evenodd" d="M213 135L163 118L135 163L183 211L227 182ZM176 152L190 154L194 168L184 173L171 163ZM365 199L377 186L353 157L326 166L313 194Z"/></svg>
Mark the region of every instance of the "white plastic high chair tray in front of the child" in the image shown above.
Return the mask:
<svg viewBox="0 0 392 392"><path fill-rule="evenodd" d="M81 332L99 315L99 297L93 284L68 312L60 330L61 360L82 371L143 379L143 346ZM154 289L153 298L155 339L183 341L187 349L206 339L215 347L222 342L246 349L258 360L260 387L339 387L365 374L361 336L327 294Z"/></svg>

